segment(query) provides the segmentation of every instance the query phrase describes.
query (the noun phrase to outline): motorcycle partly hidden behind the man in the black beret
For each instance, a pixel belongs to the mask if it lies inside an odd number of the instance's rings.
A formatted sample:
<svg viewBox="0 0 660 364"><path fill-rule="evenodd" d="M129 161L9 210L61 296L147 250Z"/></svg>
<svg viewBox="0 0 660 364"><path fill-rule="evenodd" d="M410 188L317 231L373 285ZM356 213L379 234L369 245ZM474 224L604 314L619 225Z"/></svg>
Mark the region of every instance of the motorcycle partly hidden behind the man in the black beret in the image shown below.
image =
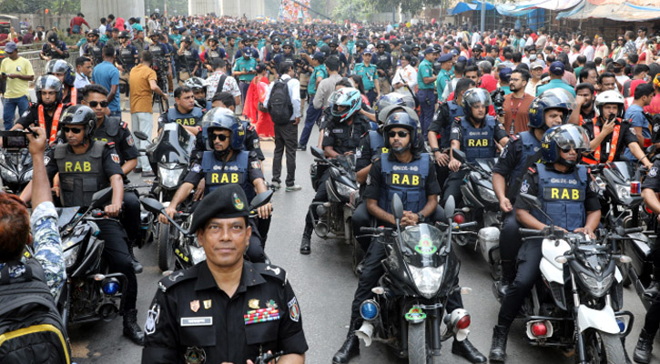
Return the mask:
<svg viewBox="0 0 660 364"><path fill-rule="evenodd" d="M257 208L268 204L272 196L273 191L268 190L252 198L249 205L249 217L257 218ZM174 258L174 262L171 264L168 262L167 268L161 268L163 271L167 271L170 267L174 267L174 270L187 269L207 259L204 248L199 246L195 232L189 231L192 213L179 212L174 217L169 217L165 212L165 206L155 198L142 197L140 203L155 216L163 214L168 218L169 225L161 224L161 226L169 229L168 241L172 247L169 256Z"/></svg>

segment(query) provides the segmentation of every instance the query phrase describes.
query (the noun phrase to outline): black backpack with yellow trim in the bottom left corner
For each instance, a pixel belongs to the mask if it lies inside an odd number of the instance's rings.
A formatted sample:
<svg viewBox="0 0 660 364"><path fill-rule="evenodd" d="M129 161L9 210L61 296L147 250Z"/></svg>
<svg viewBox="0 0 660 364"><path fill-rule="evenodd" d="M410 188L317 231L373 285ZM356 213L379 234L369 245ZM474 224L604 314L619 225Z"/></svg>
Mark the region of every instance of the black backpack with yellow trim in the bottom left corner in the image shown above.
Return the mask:
<svg viewBox="0 0 660 364"><path fill-rule="evenodd" d="M9 277L8 262L0 271L0 363L71 363L66 328L35 259L25 274Z"/></svg>

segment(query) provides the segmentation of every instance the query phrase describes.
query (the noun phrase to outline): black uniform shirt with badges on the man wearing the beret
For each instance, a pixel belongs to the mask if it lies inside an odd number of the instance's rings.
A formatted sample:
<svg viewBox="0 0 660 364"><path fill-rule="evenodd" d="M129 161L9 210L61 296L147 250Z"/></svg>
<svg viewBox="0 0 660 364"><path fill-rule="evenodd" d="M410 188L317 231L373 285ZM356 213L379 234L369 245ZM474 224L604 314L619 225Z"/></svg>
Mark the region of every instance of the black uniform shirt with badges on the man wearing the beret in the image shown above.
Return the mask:
<svg viewBox="0 0 660 364"><path fill-rule="evenodd" d="M300 305L282 268L245 261L239 288L228 297L207 262L162 278L147 313L142 363L184 363L191 354L206 363L245 363L259 349L303 354ZM253 322L254 311L277 317ZM188 355L187 355L188 353Z"/></svg>

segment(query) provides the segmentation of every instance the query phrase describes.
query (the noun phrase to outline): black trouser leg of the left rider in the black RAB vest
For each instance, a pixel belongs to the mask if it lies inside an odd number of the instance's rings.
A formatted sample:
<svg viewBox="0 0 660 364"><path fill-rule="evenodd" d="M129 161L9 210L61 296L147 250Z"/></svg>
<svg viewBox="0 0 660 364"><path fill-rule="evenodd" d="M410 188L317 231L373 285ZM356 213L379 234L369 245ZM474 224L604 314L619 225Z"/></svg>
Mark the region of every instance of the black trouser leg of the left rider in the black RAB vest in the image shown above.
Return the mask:
<svg viewBox="0 0 660 364"><path fill-rule="evenodd" d="M127 235L124 227L110 219L100 219L95 222L100 229L99 238L105 241L103 259L111 272L122 273L127 278L127 288L124 291L124 311L135 309L137 277L128 254Z"/></svg>

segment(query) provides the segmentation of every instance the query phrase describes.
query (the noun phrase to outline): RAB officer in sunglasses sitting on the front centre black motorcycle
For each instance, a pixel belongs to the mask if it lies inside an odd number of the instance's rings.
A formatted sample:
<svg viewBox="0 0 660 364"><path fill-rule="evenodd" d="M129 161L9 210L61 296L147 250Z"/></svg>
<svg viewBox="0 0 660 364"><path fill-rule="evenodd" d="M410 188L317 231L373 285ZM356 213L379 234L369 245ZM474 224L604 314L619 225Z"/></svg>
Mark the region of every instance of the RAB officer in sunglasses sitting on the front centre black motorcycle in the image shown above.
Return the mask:
<svg viewBox="0 0 660 364"><path fill-rule="evenodd" d="M440 185L435 178L435 169L429 154L421 152L423 140L417 117L414 113L410 115L405 111L392 113L385 122L383 134L388 151L382 153L381 158L371 165L364 194L371 216L378 220L379 225L395 226L391 199L396 194L401 197L404 209L401 227L426 221L443 221L444 211L438 206ZM373 243L369 246L351 306L349 333L332 358L334 364L348 363L351 358L360 354L360 342L355 336L355 330L360 328L361 324L360 304L371 298L371 288L376 286L384 273L381 266L384 258L387 258L387 253L382 244ZM459 292L452 294L446 308L447 312L462 308ZM473 363L486 361L467 339L454 339L452 353Z"/></svg>

